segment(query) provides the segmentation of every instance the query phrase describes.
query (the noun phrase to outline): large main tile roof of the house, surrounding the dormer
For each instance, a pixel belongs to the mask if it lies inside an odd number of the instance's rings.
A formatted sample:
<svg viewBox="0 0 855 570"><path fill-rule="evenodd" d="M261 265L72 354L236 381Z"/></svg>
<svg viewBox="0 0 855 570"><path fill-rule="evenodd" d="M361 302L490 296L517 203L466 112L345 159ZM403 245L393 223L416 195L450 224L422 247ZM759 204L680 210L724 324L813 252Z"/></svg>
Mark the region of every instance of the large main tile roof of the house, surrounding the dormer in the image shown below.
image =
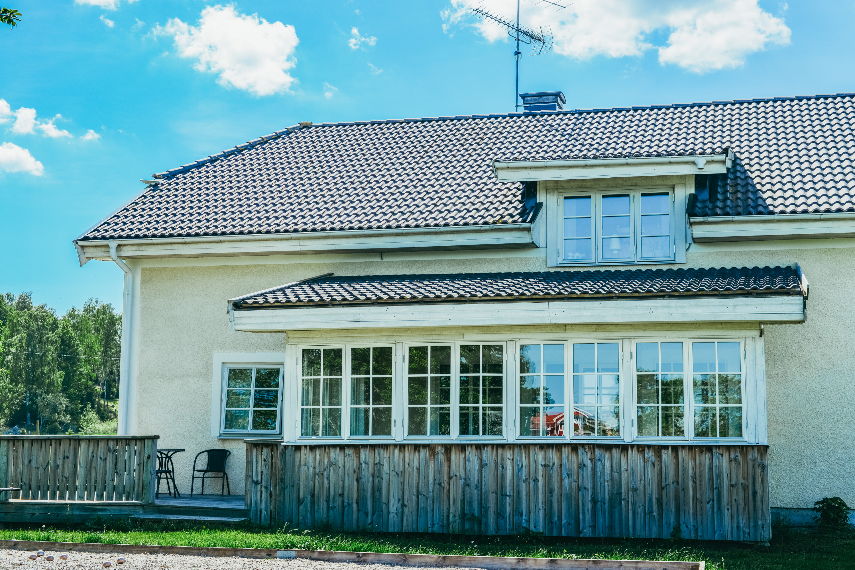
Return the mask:
<svg viewBox="0 0 855 570"><path fill-rule="evenodd" d="M158 238L526 220L493 160L734 150L693 215L855 210L855 94L292 126L164 179L81 239ZM723 178L723 177L722 177Z"/></svg>

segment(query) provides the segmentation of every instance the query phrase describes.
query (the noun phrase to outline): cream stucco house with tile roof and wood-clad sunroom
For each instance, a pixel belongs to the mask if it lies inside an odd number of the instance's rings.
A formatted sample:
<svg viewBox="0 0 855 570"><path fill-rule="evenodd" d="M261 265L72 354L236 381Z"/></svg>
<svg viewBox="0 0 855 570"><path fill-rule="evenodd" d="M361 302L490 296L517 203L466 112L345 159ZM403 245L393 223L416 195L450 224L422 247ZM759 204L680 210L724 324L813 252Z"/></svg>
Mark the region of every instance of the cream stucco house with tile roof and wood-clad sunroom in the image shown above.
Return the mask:
<svg viewBox="0 0 855 570"><path fill-rule="evenodd" d="M855 504L855 94L545 97L144 180L74 240L125 272L120 433L188 450L181 491L281 443L296 526L762 542Z"/></svg>

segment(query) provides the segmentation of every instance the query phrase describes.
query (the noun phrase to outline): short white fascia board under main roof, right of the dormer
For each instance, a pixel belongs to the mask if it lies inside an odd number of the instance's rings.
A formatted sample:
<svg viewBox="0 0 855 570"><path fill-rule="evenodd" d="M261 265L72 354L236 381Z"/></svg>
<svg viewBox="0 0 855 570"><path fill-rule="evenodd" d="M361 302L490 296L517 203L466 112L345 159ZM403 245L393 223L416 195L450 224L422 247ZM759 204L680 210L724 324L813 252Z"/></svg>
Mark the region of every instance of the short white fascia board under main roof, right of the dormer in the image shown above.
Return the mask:
<svg viewBox="0 0 855 570"><path fill-rule="evenodd" d="M773 239L853 238L855 214L779 214L690 218L699 244Z"/></svg>

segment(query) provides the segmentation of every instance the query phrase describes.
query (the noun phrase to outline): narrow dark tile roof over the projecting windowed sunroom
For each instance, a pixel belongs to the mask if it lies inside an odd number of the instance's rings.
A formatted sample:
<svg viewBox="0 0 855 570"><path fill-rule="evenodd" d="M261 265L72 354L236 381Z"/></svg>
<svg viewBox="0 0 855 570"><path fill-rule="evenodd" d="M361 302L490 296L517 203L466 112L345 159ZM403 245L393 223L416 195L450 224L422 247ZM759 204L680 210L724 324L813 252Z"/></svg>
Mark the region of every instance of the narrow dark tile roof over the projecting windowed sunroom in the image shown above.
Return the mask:
<svg viewBox="0 0 855 570"><path fill-rule="evenodd" d="M238 297L234 309L669 295L800 295L792 267L318 277Z"/></svg>

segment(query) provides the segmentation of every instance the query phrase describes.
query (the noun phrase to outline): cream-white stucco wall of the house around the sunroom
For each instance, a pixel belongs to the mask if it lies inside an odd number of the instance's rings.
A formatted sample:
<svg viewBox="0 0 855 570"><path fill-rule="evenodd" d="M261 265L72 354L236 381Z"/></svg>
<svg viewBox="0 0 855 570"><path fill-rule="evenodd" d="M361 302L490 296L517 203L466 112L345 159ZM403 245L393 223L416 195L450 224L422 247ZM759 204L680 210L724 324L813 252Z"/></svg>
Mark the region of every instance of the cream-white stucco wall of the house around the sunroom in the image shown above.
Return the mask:
<svg viewBox="0 0 855 570"><path fill-rule="evenodd" d="M766 326L770 482L773 507L809 508L822 497L855 504L855 240L694 244L674 267L792 265L811 281L807 320ZM231 450L232 492L244 487L244 444L210 434L212 359L222 352L282 352L281 333L230 332L226 300L321 273L468 273L543 271L543 250L277 256L132 261L141 274L135 433L161 436L175 459L180 491L189 491L192 457ZM668 267L668 266L657 266Z"/></svg>

